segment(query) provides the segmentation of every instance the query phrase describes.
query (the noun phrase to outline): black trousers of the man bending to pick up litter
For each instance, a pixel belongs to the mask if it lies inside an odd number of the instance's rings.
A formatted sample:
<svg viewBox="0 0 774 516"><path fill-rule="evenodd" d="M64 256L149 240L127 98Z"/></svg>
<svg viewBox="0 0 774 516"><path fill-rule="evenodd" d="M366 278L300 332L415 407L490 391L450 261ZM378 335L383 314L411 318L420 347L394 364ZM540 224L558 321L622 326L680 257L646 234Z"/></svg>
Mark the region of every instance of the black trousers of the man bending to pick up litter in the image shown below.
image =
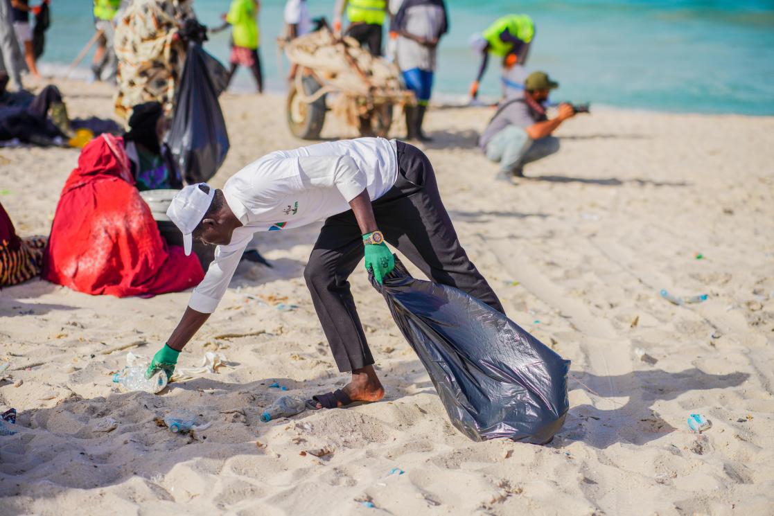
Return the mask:
<svg viewBox="0 0 774 516"><path fill-rule="evenodd" d="M457 287L505 313L457 239L430 160L413 145L398 142L397 147L396 184L373 203L385 239L433 282ZM358 221L352 210L345 211L325 220L304 271L339 371L374 363L348 282L363 252Z"/></svg>

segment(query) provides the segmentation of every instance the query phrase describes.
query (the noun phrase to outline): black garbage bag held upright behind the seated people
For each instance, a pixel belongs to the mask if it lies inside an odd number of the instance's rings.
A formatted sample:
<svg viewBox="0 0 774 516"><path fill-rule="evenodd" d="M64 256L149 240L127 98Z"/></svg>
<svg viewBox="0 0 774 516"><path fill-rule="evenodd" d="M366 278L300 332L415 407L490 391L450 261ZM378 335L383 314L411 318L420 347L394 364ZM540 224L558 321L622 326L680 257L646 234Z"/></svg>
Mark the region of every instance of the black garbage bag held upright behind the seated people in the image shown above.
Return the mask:
<svg viewBox="0 0 774 516"><path fill-rule="evenodd" d="M188 184L214 176L228 153L226 122L217 102L221 80L217 79L216 87L211 71L217 67L223 65L198 43L189 43L172 127L166 136L166 144Z"/></svg>

